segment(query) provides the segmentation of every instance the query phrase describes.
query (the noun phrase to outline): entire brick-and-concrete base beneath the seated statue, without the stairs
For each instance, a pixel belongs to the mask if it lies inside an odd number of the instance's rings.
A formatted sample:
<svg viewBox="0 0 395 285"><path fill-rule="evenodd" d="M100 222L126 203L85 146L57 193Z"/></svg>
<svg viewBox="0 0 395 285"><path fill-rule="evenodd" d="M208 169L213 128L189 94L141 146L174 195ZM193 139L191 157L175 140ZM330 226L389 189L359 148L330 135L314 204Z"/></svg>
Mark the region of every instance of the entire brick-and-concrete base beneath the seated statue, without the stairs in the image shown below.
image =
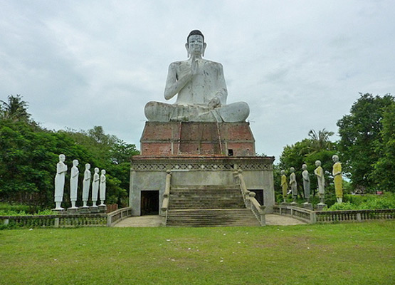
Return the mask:
<svg viewBox="0 0 395 285"><path fill-rule="evenodd" d="M235 185L233 172L241 169L247 189L273 212L274 157L255 155L249 123L147 122L140 142L130 170L133 216L160 212L167 170L174 187Z"/></svg>

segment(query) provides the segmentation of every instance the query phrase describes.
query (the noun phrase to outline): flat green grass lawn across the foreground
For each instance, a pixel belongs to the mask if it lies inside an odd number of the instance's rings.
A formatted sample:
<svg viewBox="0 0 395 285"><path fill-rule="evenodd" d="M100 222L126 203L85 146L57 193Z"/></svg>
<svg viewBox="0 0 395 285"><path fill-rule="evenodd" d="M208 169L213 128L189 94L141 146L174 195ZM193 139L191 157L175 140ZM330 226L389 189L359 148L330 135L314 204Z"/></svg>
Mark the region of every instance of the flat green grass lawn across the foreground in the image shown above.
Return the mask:
<svg viewBox="0 0 395 285"><path fill-rule="evenodd" d="M395 284L395 222L0 231L0 284Z"/></svg>

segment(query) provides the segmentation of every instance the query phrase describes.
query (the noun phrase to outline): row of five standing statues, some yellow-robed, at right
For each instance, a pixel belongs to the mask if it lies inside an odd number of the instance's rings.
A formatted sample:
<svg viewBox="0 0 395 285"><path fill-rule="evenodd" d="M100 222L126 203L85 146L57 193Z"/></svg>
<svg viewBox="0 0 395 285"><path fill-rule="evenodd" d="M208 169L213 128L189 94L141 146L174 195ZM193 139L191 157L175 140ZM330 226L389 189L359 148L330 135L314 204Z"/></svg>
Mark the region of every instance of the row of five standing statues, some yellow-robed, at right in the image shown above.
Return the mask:
<svg viewBox="0 0 395 285"><path fill-rule="evenodd" d="M335 183L335 194L338 203L342 203L343 200L343 188L342 188L342 165L339 162L339 157L337 155L332 156L332 160L334 162L332 167L332 175ZM320 203L318 205L325 205L325 177L324 170L321 167L320 160L315 162L314 174L317 177L317 192L320 197ZM296 201L297 197L297 182L295 175L295 168L290 167L290 190L293 197L293 203ZM307 165L302 165L302 181L303 181L303 190L305 194L306 202L305 204L310 203L310 175L307 171ZM285 171L281 170L281 188L283 190L283 199L285 202L285 198L287 197L288 192L288 182L287 177L285 176Z"/></svg>

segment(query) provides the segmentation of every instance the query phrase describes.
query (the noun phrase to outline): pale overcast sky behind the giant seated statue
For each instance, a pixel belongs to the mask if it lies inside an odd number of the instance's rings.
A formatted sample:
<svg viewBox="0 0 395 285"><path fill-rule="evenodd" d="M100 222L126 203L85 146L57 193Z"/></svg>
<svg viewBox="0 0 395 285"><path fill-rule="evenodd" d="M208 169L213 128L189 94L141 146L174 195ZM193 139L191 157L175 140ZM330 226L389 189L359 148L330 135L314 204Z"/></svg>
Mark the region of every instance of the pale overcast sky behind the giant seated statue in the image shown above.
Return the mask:
<svg viewBox="0 0 395 285"><path fill-rule="evenodd" d="M144 105L165 101L193 29L276 162L310 129L337 133L359 92L395 93L393 0L0 0L0 100L21 94L45 128L101 125L139 148Z"/></svg>

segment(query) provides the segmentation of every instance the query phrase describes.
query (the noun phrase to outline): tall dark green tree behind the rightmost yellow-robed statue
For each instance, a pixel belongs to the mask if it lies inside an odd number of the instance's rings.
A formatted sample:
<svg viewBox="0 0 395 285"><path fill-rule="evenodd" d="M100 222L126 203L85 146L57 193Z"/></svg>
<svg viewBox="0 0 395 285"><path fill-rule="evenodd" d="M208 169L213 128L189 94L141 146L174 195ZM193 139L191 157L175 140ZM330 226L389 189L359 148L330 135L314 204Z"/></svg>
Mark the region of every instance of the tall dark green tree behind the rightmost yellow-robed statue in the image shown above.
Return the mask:
<svg viewBox="0 0 395 285"><path fill-rule="evenodd" d="M374 165L381 157L384 110L394 103L394 97L361 94L352 105L349 115L337 121L339 127L339 151L344 172L348 172L352 187L374 192L377 183ZM379 150L378 148L379 147Z"/></svg>

